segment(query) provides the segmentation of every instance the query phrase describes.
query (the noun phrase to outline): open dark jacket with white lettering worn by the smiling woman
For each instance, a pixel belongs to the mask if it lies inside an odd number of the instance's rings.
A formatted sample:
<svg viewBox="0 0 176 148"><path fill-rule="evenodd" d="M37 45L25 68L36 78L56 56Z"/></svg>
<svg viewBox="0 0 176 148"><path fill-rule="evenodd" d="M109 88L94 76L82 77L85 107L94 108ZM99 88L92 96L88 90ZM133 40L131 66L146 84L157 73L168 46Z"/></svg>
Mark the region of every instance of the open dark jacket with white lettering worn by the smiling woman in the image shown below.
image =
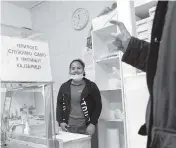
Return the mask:
<svg viewBox="0 0 176 148"><path fill-rule="evenodd" d="M86 86L82 91L80 98L80 105L83 110L87 125L92 123L96 125L102 110L101 95L97 85L84 78ZM71 79L63 83L60 87L57 106L56 106L56 120L58 123L65 122L68 124L70 108L71 108Z"/></svg>

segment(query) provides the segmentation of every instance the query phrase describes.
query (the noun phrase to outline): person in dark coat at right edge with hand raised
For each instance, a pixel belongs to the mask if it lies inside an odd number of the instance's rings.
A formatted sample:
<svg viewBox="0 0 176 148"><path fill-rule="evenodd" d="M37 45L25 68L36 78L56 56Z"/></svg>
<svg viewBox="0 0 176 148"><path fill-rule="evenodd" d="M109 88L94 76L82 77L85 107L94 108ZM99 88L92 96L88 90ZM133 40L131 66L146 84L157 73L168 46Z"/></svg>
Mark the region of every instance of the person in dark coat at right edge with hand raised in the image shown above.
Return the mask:
<svg viewBox="0 0 176 148"><path fill-rule="evenodd" d="M176 148L176 2L158 2L150 44L131 37L123 23L111 23L121 31L112 36L122 61L147 73L147 128L139 133L148 135L147 148Z"/></svg>

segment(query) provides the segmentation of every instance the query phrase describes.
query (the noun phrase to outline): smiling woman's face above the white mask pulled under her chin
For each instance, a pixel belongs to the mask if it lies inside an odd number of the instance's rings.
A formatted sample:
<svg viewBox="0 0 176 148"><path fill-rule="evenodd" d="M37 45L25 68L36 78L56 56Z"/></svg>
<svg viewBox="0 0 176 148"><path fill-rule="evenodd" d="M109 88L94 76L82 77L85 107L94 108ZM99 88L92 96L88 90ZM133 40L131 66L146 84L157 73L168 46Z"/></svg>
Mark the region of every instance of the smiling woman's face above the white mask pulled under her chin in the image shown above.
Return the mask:
<svg viewBox="0 0 176 148"><path fill-rule="evenodd" d="M71 75L76 75L76 74L79 75L79 74L83 74L83 73L84 73L84 69L78 61L75 61L71 64L71 67L70 67L70 74Z"/></svg>

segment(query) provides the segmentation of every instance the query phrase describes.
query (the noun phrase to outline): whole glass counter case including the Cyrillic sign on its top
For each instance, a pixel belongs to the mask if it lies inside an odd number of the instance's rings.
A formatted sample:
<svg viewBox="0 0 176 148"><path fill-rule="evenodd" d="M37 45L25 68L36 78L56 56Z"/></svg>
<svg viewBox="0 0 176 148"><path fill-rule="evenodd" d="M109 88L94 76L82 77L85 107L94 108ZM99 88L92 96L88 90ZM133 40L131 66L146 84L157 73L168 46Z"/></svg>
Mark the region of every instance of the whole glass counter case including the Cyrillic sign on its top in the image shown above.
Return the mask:
<svg viewBox="0 0 176 148"><path fill-rule="evenodd" d="M53 82L46 37L29 28L1 24L1 41L1 146L59 147L61 142L55 138ZM32 51L34 46L36 49ZM16 51L31 55L16 54ZM40 69L19 67L18 63L37 63Z"/></svg>

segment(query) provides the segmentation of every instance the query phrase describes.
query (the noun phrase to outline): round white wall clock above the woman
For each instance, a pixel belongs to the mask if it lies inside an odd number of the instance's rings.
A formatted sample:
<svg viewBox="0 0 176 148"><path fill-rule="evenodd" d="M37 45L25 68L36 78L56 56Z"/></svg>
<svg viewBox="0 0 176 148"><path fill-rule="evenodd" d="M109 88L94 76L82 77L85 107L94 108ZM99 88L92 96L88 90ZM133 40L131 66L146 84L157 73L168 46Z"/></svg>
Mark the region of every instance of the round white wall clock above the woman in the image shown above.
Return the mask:
<svg viewBox="0 0 176 148"><path fill-rule="evenodd" d="M72 25L75 30L82 30L89 22L89 13L84 8L75 10L72 16Z"/></svg>

